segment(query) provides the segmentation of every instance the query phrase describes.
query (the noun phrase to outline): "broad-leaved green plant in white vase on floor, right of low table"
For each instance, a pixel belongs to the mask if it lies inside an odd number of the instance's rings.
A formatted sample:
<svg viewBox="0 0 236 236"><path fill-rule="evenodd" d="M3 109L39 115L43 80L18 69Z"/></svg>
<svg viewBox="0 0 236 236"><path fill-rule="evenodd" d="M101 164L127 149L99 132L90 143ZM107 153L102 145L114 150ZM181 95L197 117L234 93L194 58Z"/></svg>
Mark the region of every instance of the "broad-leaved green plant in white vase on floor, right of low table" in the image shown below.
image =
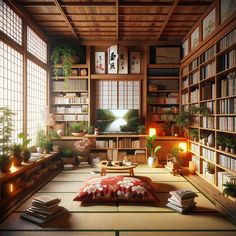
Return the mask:
<svg viewBox="0 0 236 236"><path fill-rule="evenodd" d="M161 146L155 145L156 135L148 136L146 138L146 146L148 149L148 165L150 167L156 168L158 166L157 152L161 149Z"/></svg>

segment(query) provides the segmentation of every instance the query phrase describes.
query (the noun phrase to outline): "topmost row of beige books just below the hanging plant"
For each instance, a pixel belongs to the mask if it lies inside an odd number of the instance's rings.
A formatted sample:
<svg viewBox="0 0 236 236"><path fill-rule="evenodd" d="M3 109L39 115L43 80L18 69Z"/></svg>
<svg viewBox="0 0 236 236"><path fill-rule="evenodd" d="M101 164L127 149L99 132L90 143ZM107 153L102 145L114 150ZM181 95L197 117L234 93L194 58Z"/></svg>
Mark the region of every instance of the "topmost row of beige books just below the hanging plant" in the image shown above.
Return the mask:
<svg viewBox="0 0 236 236"><path fill-rule="evenodd" d="M52 90L88 90L88 80L86 79L79 79L79 80L68 80L65 81L53 81L52 83Z"/></svg>

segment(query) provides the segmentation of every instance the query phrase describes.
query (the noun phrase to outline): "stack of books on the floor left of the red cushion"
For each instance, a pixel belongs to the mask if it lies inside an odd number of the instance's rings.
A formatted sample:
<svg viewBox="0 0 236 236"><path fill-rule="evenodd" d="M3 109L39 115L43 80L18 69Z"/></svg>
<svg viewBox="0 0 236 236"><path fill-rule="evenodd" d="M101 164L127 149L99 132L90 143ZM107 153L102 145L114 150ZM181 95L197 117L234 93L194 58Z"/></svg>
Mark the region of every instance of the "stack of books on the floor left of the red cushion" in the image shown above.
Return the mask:
<svg viewBox="0 0 236 236"><path fill-rule="evenodd" d="M32 205L23 213L20 218L31 223L43 226L47 222L62 214L68 213L67 209L59 206L61 200L48 195L35 197Z"/></svg>

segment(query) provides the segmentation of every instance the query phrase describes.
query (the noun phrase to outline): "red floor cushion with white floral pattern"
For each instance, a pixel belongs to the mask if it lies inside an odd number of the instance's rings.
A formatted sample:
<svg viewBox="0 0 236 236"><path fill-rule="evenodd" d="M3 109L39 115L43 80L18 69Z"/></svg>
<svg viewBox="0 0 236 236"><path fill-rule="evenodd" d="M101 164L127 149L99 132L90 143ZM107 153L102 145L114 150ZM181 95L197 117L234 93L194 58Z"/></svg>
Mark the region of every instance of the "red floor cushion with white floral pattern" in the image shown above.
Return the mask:
<svg viewBox="0 0 236 236"><path fill-rule="evenodd" d="M158 199L147 177L99 176L85 181L74 201L156 202Z"/></svg>

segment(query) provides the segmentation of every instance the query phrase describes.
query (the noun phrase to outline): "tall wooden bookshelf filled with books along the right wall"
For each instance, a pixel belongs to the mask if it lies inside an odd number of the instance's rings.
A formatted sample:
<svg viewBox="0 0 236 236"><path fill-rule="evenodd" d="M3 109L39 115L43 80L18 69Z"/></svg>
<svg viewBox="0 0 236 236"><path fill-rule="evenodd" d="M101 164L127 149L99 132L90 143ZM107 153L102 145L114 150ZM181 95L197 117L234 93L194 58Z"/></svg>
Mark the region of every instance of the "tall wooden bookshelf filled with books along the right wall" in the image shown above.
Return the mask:
<svg viewBox="0 0 236 236"><path fill-rule="evenodd" d="M196 173L221 192L223 183L236 180L236 152L227 148L229 140L236 140L235 48L236 29L229 28L181 64L181 110L194 105L211 112L208 117L196 116L197 122L190 126L199 133L197 140L188 140L190 159ZM214 137L212 145L209 135Z"/></svg>

